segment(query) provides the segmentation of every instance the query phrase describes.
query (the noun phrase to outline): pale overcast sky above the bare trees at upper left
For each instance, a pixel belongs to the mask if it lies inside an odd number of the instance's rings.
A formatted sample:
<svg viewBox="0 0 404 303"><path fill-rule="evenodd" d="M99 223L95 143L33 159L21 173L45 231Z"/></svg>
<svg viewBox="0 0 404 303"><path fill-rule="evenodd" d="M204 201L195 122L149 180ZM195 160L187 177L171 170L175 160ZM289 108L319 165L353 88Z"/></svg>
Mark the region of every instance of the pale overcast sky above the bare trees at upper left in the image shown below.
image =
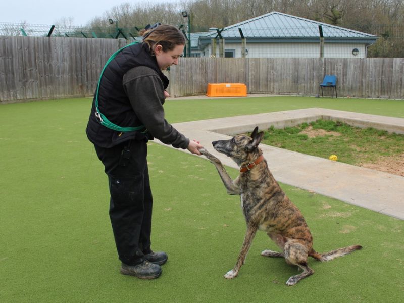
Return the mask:
<svg viewBox="0 0 404 303"><path fill-rule="evenodd" d="M0 22L26 21L32 24L52 25L63 17L73 17L73 25L85 25L94 17L101 17L114 6L128 2L166 3L168 0L4 0Z"/></svg>

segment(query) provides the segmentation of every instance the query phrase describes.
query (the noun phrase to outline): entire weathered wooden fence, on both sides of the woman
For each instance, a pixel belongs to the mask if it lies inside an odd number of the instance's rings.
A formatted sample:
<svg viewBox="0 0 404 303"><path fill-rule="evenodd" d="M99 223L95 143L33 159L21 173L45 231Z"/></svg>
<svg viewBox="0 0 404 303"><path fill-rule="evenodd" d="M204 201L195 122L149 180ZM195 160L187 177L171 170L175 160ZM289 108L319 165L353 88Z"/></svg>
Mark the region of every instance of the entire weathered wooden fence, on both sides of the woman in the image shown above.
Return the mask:
<svg viewBox="0 0 404 303"><path fill-rule="evenodd" d="M0 36L0 102L90 96L124 40ZM315 96L325 74L339 96L404 96L404 58L181 58L165 72L169 93L205 94L208 83L245 83L248 93ZM324 95L330 95L326 89Z"/></svg>

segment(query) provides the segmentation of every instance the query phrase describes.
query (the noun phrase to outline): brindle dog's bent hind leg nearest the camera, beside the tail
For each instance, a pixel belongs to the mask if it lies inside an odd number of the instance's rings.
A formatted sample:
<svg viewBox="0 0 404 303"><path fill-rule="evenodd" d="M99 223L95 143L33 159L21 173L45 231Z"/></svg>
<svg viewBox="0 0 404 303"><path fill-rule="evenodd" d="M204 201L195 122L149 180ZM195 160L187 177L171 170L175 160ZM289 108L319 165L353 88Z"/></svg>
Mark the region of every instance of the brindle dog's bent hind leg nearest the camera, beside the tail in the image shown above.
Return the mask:
<svg viewBox="0 0 404 303"><path fill-rule="evenodd" d="M291 276L286 285L294 285L301 279L314 274L314 270L307 265L308 248L304 244L297 240L287 241L284 247L284 256L287 263L297 265L303 270L301 274Z"/></svg>

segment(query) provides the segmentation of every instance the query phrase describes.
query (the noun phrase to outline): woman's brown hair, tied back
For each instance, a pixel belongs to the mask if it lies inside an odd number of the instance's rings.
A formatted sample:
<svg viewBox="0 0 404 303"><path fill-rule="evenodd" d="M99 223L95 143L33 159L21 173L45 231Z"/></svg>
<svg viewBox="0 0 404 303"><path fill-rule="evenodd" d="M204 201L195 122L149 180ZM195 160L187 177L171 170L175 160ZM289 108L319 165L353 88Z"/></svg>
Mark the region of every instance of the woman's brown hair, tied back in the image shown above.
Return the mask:
<svg viewBox="0 0 404 303"><path fill-rule="evenodd" d="M163 52L172 51L177 45L185 45L184 34L173 25L160 24L148 30L142 29L139 34L152 52L157 44L163 46Z"/></svg>

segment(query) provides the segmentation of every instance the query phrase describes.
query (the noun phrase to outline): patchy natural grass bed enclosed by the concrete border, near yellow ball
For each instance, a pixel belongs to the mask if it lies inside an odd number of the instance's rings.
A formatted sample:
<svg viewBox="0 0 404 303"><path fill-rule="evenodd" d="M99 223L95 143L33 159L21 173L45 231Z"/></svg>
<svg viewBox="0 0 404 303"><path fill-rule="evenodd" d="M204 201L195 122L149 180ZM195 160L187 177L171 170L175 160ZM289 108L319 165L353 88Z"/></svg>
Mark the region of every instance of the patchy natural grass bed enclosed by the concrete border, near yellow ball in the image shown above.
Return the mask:
<svg viewBox="0 0 404 303"><path fill-rule="evenodd" d="M309 125L313 130L322 129L333 133L309 138L303 133ZM326 159L336 154L338 161L353 165L372 163L380 157L393 157L404 153L402 134L352 127L330 120L317 120L284 129L271 127L264 131L262 143Z"/></svg>

